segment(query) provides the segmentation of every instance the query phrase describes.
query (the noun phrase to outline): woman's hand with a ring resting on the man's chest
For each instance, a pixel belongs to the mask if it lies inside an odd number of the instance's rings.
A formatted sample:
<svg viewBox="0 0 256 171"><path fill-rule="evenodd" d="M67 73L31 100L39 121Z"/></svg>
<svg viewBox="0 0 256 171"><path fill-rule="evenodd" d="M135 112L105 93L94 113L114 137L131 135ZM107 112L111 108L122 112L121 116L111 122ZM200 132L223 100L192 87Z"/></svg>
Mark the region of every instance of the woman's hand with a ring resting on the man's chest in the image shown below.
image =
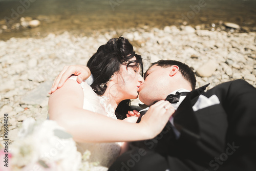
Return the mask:
<svg viewBox="0 0 256 171"><path fill-rule="evenodd" d="M160 100L150 106L150 109L141 118L140 123L147 129L150 138L156 137L164 128L175 109L171 103Z"/></svg>

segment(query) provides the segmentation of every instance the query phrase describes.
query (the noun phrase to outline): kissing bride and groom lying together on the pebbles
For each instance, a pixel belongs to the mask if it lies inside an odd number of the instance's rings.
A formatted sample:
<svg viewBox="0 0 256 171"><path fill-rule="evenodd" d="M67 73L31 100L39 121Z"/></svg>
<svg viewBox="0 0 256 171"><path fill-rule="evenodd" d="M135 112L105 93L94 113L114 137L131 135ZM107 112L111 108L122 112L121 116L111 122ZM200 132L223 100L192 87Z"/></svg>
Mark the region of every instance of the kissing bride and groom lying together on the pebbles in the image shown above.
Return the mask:
<svg viewBox="0 0 256 171"><path fill-rule="evenodd" d="M194 72L175 60L152 63L142 75L142 57L119 37L87 67L65 67L55 79L49 118L80 153L91 151L92 170L256 169L253 86L240 79L195 89ZM150 107L133 111L137 97Z"/></svg>

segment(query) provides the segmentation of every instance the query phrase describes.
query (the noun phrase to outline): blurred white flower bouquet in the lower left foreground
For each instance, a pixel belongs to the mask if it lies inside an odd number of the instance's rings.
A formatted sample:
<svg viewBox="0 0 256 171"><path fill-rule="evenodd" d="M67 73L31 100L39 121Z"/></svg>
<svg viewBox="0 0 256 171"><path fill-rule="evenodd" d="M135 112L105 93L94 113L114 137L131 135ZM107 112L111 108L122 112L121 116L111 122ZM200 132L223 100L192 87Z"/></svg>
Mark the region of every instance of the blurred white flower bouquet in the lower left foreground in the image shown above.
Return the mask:
<svg viewBox="0 0 256 171"><path fill-rule="evenodd" d="M76 171L82 165L72 136L52 120L26 119L10 152L12 170Z"/></svg>

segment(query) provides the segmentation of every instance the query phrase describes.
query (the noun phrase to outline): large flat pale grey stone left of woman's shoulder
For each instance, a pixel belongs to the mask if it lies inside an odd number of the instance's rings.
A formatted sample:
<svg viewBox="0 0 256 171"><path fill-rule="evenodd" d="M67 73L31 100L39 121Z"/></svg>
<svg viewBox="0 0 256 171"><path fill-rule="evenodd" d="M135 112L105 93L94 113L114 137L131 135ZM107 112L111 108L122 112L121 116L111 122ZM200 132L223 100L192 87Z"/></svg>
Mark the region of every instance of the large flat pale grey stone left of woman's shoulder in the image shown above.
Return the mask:
<svg viewBox="0 0 256 171"><path fill-rule="evenodd" d="M41 83L21 99L22 104L43 104L48 102L47 93L52 86L52 81Z"/></svg>

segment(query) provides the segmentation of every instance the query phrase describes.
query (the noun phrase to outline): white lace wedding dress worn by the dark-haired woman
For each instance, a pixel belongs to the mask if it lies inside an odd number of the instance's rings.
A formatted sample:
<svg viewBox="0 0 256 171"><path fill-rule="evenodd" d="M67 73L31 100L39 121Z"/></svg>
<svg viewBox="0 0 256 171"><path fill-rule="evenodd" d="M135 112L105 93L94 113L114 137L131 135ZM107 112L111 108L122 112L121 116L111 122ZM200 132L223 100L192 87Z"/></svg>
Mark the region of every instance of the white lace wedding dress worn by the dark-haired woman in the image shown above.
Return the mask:
<svg viewBox="0 0 256 171"><path fill-rule="evenodd" d="M76 76L71 76L69 79L76 80ZM98 96L86 81L83 81L80 85L84 93L83 109L117 119L114 108L112 108L112 105L108 103L108 97ZM121 144L122 143L118 142L77 143L77 149L82 155L86 153L87 150L91 152L90 158L87 161L95 164L95 166L90 170L108 170L108 167L119 155Z"/></svg>

